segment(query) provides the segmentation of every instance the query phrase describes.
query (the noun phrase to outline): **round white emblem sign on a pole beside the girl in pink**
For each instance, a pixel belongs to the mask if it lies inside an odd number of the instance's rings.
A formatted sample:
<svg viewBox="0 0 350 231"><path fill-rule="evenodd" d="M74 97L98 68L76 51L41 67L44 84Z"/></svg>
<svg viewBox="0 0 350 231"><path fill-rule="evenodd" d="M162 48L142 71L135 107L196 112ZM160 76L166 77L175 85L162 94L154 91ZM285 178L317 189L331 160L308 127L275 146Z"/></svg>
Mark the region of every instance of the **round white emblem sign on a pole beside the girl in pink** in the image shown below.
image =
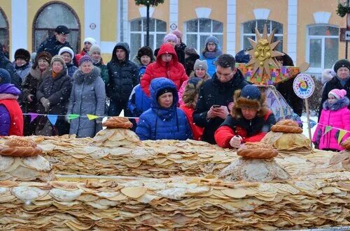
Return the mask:
<svg viewBox="0 0 350 231"><path fill-rule="evenodd" d="M307 111L307 129L309 130L309 139L311 139L311 125L310 125L310 112L309 112L309 102L307 98L309 98L315 90L315 82L312 80L310 75L307 74L299 74L295 77L293 81L293 90L297 97L304 98L305 107ZM312 148L312 142L310 143Z"/></svg>

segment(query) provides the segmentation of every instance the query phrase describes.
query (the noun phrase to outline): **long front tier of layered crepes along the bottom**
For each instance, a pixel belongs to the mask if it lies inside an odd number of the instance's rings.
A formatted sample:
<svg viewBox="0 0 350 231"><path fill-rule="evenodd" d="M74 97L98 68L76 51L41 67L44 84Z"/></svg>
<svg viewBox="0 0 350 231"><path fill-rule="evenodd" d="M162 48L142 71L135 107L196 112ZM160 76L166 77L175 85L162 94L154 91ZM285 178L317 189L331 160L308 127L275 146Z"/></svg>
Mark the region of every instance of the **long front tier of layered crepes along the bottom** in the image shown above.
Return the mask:
<svg viewBox="0 0 350 231"><path fill-rule="evenodd" d="M349 225L350 174L322 177L326 178L309 175L283 184L194 177L0 181L0 229L345 228Z"/></svg>

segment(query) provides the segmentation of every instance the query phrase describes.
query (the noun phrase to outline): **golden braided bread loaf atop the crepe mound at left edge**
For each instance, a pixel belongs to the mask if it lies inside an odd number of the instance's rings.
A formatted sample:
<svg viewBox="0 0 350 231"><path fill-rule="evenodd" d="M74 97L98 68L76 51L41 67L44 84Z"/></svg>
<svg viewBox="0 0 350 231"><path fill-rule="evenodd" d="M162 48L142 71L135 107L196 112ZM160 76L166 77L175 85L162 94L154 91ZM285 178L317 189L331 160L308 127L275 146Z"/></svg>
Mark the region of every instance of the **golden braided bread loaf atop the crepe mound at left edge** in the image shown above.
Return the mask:
<svg viewBox="0 0 350 231"><path fill-rule="evenodd" d="M43 152L33 140L25 137L10 137L5 145L5 147L0 147L0 154L3 156L27 157L37 156Z"/></svg>

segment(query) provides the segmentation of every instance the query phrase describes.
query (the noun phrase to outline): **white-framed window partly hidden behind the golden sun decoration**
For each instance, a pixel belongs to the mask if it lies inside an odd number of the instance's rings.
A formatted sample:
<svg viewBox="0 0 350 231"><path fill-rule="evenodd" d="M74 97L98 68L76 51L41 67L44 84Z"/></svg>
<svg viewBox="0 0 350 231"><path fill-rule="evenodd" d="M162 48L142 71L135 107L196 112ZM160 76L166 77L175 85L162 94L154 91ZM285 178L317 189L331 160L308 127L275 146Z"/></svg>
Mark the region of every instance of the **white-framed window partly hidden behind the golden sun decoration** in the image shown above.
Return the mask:
<svg viewBox="0 0 350 231"><path fill-rule="evenodd" d="M264 30L264 24L267 25L267 33L271 33L273 29L276 29L274 31L274 41L281 40L279 42L279 45L277 45L275 50L278 50L282 52L283 50L283 24L279 22L274 22L271 20L254 20L250 22L244 22L243 28L242 28L242 36L241 36L241 47L242 49L246 49L248 47L251 47L251 43L249 43L249 40L247 38L251 38L255 40L255 27L258 27L258 31L260 34Z"/></svg>

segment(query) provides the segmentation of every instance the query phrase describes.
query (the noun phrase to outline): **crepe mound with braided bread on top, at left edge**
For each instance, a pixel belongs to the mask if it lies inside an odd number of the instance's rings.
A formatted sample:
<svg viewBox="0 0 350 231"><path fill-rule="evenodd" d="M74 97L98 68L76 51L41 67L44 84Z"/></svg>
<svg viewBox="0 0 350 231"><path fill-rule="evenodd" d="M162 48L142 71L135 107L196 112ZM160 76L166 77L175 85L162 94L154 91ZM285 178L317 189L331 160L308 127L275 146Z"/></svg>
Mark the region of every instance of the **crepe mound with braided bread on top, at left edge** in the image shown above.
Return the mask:
<svg viewBox="0 0 350 231"><path fill-rule="evenodd" d="M0 180L54 180L51 165L41 153L41 148L29 137L3 137L0 144Z"/></svg>

